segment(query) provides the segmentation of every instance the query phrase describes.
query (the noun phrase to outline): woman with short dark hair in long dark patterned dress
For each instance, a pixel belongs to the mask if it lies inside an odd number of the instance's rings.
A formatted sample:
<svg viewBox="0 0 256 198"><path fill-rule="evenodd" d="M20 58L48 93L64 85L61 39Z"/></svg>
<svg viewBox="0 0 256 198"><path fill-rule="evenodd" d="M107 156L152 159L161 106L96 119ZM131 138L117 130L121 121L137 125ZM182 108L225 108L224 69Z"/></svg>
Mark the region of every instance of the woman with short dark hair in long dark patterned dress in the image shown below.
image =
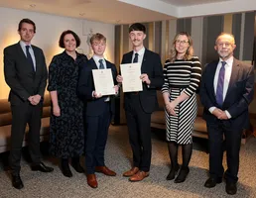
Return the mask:
<svg viewBox="0 0 256 198"><path fill-rule="evenodd" d="M83 153L84 134L82 109L83 104L76 95L79 67L87 57L75 51L80 39L72 31L64 31L59 46L64 52L53 57L49 67L49 86L52 99L50 125L50 151L62 158L64 176L71 177L68 159L77 172L83 172L79 156Z"/></svg>

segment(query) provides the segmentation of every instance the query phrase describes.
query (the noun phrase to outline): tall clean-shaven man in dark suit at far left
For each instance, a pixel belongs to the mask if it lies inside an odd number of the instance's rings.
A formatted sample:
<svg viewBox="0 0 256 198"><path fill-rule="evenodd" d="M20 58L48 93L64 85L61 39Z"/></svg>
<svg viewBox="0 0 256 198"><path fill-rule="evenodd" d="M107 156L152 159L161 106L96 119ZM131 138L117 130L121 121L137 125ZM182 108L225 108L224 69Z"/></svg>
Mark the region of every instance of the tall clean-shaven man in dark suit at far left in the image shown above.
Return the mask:
<svg viewBox="0 0 256 198"><path fill-rule="evenodd" d="M10 166L12 184L24 187L20 177L21 148L26 125L29 125L29 150L32 170L51 172L40 159L40 128L43 97L47 84L47 66L42 49L31 45L36 25L30 19L19 23L20 42L4 49L4 74L11 88L9 101L12 110Z"/></svg>

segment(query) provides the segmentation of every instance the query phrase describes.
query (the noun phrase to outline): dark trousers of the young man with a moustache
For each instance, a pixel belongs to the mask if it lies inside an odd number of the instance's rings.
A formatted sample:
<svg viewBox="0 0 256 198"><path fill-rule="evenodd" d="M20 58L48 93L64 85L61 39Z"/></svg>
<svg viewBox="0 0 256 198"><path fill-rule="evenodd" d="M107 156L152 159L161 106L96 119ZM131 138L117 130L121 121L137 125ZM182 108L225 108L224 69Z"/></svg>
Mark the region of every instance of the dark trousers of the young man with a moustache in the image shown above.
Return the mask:
<svg viewBox="0 0 256 198"><path fill-rule="evenodd" d="M129 141L133 152L133 166L149 171L151 164L151 114L142 109L139 95L131 94L126 104Z"/></svg>

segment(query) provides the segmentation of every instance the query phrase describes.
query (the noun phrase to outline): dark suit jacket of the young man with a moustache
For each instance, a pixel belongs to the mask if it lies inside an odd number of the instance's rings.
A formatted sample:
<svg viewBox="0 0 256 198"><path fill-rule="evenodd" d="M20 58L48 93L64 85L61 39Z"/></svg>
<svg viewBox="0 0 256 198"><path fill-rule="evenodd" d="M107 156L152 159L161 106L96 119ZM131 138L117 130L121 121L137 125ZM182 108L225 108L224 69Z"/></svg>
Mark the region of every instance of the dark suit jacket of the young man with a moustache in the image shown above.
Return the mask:
<svg viewBox="0 0 256 198"><path fill-rule="evenodd" d="M132 62L133 51L125 53L122 58L122 63ZM164 83L163 67L158 53L145 49L145 53L141 65L141 73L147 73L151 81L148 87L143 83L143 91L139 92L141 106L146 113L152 113L158 106L156 89L160 89ZM125 109L129 108L129 92L124 93Z"/></svg>

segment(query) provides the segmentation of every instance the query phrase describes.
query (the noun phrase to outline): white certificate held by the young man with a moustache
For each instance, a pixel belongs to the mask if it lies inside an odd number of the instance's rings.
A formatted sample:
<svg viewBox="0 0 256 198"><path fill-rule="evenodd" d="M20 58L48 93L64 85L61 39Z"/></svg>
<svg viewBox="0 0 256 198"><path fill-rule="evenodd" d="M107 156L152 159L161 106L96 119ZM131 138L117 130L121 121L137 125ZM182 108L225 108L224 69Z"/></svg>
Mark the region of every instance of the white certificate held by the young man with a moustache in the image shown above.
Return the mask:
<svg viewBox="0 0 256 198"><path fill-rule="evenodd" d="M121 64L123 92L142 91L141 63Z"/></svg>

